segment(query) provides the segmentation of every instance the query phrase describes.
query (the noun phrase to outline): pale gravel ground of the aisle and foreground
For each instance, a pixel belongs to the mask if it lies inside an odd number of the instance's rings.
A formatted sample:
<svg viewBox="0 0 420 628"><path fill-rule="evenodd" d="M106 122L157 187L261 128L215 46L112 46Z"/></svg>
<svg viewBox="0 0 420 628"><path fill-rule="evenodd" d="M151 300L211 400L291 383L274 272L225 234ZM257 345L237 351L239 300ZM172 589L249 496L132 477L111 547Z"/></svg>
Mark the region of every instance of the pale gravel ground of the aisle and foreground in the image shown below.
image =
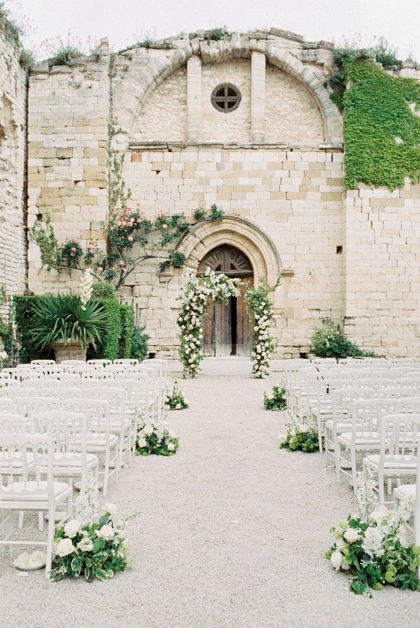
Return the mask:
<svg viewBox="0 0 420 628"><path fill-rule="evenodd" d="M356 503L320 454L279 449L286 415L262 409L267 386L187 382L190 408L169 413L176 456L134 459L109 491L123 516L141 510L127 530L134 568L110 582L50 583L3 561L1 628L418 625L419 594L388 587L365 599L332 571L328 530Z"/></svg>

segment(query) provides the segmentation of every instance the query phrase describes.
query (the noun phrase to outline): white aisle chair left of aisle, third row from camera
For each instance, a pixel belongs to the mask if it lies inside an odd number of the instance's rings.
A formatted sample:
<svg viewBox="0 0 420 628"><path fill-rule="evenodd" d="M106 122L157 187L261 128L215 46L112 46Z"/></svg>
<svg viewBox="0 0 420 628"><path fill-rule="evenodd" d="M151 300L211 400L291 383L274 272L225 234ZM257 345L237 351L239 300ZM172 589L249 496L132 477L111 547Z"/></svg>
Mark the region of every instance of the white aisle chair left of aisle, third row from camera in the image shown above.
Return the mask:
<svg viewBox="0 0 420 628"><path fill-rule="evenodd" d="M102 494L106 497L111 475L116 476L118 484L120 439L118 435L111 433L110 429L110 404L109 401L97 399L66 399L61 403L64 412L82 412L86 417L87 436L86 449L92 454L104 454L104 470L99 475L104 476ZM81 441L79 442L81 446ZM111 469L113 465L113 469Z"/></svg>

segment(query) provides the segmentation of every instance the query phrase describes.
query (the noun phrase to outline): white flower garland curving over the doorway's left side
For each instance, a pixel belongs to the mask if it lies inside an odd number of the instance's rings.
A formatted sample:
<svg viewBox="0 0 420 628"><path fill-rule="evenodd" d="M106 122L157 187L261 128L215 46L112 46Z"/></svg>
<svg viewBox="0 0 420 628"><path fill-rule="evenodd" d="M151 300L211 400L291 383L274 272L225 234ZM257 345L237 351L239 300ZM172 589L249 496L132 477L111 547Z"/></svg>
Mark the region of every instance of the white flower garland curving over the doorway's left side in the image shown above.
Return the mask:
<svg viewBox="0 0 420 628"><path fill-rule="evenodd" d="M183 293L178 297L181 312L176 319L180 329L179 357L183 363L183 377L195 377L203 359L202 317L206 314L207 299L210 297L216 305L227 305L230 296L239 296L237 285L240 283L240 279L230 279L209 269L201 277L193 273L188 275Z"/></svg>

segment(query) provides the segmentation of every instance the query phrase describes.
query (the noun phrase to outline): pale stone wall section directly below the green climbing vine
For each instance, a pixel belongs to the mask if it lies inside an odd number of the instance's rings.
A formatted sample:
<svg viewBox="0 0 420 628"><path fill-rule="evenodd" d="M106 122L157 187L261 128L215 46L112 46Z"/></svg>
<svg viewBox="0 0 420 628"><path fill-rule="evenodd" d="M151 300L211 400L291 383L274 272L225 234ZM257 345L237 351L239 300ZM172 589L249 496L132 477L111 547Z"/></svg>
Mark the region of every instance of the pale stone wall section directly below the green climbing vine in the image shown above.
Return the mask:
<svg viewBox="0 0 420 628"><path fill-rule="evenodd" d="M345 330L386 356L419 356L420 184L346 190Z"/></svg>

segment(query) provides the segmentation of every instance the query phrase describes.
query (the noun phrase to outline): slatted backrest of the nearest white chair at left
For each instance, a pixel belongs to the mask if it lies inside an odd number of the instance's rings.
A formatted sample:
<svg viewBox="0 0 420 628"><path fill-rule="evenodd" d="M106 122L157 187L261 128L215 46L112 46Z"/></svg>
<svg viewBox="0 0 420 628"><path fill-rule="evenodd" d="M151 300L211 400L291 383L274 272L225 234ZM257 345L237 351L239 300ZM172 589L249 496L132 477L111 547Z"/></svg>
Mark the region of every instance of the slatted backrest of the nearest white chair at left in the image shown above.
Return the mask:
<svg viewBox="0 0 420 628"><path fill-rule="evenodd" d="M34 496L39 493L41 481L45 482L45 466L47 470L45 501L52 501L54 498L52 467L54 443L50 436L29 433L0 434L0 452L0 508L5 508L8 504L3 499L5 497L7 499L16 481L19 482L19 501L34 500ZM41 464L43 475L41 475ZM18 480L15 478L17 466L20 469ZM36 501L40 501L39 498Z"/></svg>

